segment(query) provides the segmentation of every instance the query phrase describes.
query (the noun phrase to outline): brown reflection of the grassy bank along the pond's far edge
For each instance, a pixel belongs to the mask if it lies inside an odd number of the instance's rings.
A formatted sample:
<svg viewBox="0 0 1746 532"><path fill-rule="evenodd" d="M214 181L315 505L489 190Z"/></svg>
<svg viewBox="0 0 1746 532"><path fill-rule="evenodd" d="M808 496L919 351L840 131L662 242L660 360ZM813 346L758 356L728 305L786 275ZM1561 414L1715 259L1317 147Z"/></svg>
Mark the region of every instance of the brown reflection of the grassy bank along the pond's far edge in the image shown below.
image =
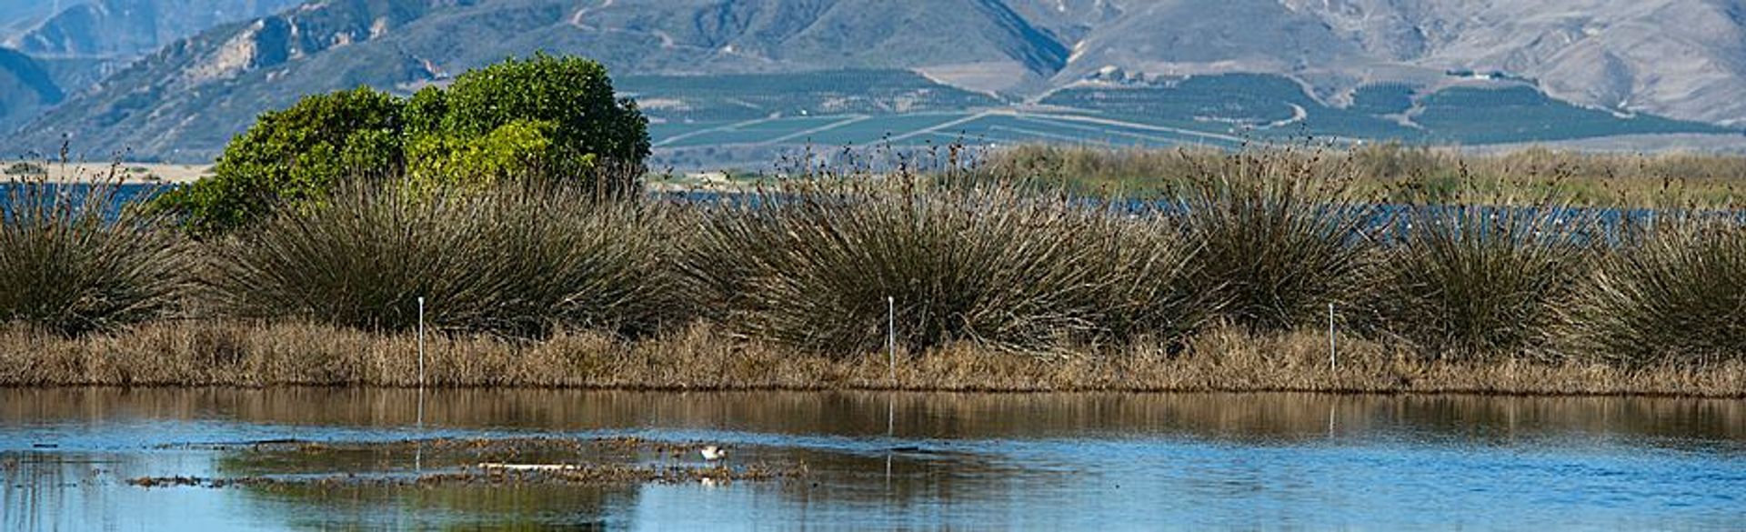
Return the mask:
<svg viewBox="0 0 1746 532"><path fill-rule="evenodd" d="M1542 434L1746 440L1746 401L1336 394L927 394L381 389L9 389L0 424L225 419L435 429L716 429L773 434L1121 438L1245 443L1339 436L1507 443ZM423 406L423 408L421 408ZM423 412L421 412L423 410ZM1379 434L1381 433L1381 434Z"/></svg>

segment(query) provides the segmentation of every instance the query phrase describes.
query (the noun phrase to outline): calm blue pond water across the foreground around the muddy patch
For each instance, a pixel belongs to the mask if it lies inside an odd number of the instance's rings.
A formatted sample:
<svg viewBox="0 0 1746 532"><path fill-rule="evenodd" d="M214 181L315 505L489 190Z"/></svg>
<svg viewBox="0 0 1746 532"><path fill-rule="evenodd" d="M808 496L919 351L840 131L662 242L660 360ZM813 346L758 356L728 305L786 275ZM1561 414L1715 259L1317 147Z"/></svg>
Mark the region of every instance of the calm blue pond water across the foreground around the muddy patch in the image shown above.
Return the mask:
<svg viewBox="0 0 1746 532"><path fill-rule="evenodd" d="M197 443L454 436L707 441L739 464L810 473L609 487L126 481L292 471ZM416 471L421 459L314 467ZM10 389L0 460L5 530L1746 527L1746 401L1734 399L433 391L421 408L416 391Z"/></svg>

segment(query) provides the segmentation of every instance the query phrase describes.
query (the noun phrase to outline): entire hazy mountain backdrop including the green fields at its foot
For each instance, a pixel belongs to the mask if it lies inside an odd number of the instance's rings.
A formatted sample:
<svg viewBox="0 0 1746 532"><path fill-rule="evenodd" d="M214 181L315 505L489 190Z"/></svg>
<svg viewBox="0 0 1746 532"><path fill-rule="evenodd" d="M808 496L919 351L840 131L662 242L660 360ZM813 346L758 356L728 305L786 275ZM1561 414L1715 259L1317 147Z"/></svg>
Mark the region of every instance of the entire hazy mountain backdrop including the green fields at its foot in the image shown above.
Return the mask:
<svg viewBox="0 0 1746 532"><path fill-rule="evenodd" d="M14 33L0 127L7 115L19 127L0 147L66 138L203 160L302 94L410 92L534 51L606 63L670 148L870 124L885 138L1014 141L1130 127L1123 140L1142 143L1269 127L1505 143L1746 126L1746 0L290 3L98 0ZM0 21L9 12L0 3ZM127 66L86 78L54 63L115 58ZM924 115L941 119L904 129ZM1090 124L1107 127L1074 127Z"/></svg>

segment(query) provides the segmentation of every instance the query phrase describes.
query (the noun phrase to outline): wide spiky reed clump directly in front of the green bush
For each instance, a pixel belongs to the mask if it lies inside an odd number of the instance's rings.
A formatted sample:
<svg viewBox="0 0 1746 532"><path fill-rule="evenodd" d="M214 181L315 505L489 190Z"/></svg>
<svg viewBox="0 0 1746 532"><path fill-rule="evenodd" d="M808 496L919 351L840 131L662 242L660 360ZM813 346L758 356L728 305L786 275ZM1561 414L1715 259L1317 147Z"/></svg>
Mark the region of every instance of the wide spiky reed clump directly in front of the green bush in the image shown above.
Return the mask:
<svg viewBox="0 0 1746 532"><path fill-rule="evenodd" d="M213 242L225 316L361 330L648 333L681 312L660 209L550 187L354 185Z"/></svg>

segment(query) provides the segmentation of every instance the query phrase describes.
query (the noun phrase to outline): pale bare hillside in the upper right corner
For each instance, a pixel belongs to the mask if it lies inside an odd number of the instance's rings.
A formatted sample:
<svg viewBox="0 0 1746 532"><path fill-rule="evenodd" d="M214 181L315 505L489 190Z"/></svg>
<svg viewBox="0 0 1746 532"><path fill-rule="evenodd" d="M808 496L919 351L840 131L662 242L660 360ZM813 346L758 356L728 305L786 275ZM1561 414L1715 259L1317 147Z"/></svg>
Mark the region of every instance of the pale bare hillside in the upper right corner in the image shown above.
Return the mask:
<svg viewBox="0 0 1746 532"><path fill-rule="evenodd" d="M1741 0L1283 0L1372 63L1503 72L1570 101L1746 124ZM1351 68L1346 68L1351 72Z"/></svg>

